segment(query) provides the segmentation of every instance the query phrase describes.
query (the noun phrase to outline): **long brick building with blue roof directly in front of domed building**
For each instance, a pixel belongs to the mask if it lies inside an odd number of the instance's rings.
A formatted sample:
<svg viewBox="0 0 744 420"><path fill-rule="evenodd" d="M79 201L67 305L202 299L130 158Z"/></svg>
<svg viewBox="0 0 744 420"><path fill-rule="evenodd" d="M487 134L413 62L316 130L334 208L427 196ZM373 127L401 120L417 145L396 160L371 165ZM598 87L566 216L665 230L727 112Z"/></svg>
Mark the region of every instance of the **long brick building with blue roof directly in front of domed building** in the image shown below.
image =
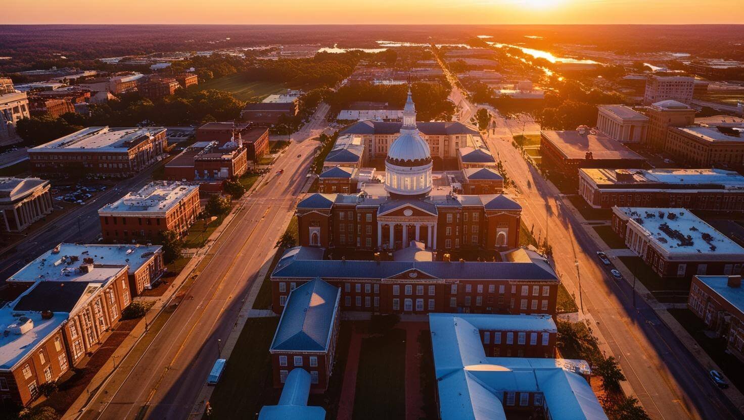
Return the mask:
<svg viewBox="0 0 744 420"><path fill-rule="evenodd" d="M547 260L518 249L501 262L322 259L324 250L293 248L272 273L272 308L315 277L341 288L341 310L379 314L474 312L555 314L560 280Z"/></svg>

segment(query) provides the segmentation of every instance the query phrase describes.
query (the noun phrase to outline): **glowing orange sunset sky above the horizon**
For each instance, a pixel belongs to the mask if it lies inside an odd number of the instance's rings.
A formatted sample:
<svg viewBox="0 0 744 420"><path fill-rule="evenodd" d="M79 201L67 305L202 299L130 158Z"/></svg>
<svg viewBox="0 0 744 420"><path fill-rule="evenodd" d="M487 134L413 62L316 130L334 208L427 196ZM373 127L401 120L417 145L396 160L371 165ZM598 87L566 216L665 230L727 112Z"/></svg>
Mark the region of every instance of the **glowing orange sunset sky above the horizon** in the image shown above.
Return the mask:
<svg viewBox="0 0 744 420"><path fill-rule="evenodd" d="M25 0L3 4L0 24L744 23L741 1Z"/></svg>

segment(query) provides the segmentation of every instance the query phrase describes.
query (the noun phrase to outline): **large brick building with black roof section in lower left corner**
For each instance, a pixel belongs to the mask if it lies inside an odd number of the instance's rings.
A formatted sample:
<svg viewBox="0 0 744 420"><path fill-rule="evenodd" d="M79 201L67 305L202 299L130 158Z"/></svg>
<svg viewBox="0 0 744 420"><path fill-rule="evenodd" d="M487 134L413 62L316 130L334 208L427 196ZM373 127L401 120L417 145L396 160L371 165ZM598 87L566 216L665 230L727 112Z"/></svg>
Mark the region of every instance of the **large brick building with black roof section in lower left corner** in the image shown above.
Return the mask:
<svg viewBox="0 0 744 420"><path fill-rule="evenodd" d="M126 266L37 264L23 270L38 270L40 280L0 309L6 329L0 339L0 398L20 405L94 352L131 302Z"/></svg>

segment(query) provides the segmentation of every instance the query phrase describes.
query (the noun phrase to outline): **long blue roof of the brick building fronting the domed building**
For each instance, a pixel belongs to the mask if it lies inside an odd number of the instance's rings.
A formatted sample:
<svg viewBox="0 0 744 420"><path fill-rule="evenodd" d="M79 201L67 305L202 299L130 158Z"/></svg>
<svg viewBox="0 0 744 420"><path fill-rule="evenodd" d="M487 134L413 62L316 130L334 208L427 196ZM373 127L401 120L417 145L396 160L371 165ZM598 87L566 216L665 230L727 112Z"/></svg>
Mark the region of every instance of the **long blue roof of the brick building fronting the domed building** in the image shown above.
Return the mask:
<svg viewBox="0 0 744 420"><path fill-rule="evenodd" d="M445 280L558 280L555 271L549 265L536 260L532 262L376 262L295 259L276 268L272 277L382 280L414 268Z"/></svg>

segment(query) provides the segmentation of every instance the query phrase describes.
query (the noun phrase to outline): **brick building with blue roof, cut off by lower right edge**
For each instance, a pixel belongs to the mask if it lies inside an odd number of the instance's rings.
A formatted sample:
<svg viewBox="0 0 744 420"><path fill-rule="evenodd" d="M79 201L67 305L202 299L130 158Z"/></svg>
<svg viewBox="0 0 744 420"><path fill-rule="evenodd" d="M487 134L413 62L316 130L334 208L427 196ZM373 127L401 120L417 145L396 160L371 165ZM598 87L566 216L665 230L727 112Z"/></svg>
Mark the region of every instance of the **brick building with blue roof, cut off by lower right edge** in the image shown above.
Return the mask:
<svg viewBox="0 0 744 420"><path fill-rule="evenodd" d="M708 331L726 338L726 352L744 362L744 289L740 274L693 276L687 308Z"/></svg>

